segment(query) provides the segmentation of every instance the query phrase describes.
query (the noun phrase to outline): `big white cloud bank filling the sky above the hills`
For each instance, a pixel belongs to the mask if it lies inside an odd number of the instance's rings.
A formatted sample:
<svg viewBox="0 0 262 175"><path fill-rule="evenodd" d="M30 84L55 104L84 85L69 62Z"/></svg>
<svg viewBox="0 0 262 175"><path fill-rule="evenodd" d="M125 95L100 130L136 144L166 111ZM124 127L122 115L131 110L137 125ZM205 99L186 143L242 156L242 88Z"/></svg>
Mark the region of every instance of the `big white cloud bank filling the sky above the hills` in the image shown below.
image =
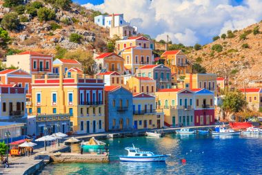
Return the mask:
<svg viewBox="0 0 262 175"><path fill-rule="evenodd" d="M156 39L194 45L205 44L227 30L241 29L261 20L262 1L246 0L231 6L230 0L105 0L87 8L108 13L124 13L139 32Z"/></svg>

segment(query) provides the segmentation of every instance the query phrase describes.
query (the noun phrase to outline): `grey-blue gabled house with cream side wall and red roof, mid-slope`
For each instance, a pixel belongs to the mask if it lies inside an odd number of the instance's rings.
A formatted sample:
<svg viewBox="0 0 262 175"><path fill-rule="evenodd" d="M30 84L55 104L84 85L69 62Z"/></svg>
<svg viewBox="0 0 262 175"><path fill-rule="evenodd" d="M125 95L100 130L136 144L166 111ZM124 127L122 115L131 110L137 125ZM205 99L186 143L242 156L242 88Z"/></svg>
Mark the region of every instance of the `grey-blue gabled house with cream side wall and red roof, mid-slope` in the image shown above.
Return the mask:
<svg viewBox="0 0 262 175"><path fill-rule="evenodd" d="M163 64L145 65L137 70L137 76L156 80L157 91L171 88L171 75L171 69Z"/></svg>

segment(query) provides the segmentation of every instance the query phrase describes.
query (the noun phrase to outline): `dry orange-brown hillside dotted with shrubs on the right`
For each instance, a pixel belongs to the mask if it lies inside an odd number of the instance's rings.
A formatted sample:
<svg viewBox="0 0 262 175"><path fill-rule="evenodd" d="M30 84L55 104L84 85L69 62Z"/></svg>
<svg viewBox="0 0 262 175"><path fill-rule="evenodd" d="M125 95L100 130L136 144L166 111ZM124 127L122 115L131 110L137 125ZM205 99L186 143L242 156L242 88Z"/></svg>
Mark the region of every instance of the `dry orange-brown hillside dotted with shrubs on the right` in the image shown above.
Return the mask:
<svg viewBox="0 0 262 175"><path fill-rule="evenodd" d="M251 80L262 80L262 22L243 30L228 31L223 38L192 49L188 57L210 73L226 77L229 84L243 86Z"/></svg>

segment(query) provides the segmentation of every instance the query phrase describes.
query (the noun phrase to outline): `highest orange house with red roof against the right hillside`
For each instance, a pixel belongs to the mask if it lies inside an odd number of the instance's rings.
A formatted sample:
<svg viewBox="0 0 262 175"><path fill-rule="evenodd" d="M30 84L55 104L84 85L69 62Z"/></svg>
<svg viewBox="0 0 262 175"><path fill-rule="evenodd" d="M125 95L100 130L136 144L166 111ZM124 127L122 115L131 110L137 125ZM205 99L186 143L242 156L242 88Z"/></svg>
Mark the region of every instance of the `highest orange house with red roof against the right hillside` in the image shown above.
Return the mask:
<svg viewBox="0 0 262 175"><path fill-rule="evenodd" d="M165 60L165 66L170 67L172 73L176 73L177 78L185 73L191 73L191 65L182 50L165 51L161 58Z"/></svg>

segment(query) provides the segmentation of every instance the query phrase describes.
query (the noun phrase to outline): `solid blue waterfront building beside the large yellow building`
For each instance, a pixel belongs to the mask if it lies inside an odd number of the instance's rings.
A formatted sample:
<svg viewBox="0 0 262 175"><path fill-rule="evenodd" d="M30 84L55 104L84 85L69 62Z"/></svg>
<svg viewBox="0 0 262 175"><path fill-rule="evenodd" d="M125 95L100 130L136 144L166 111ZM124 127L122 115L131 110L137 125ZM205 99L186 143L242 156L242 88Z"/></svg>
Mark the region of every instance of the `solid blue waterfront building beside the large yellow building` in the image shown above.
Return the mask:
<svg viewBox="0 0 262 175"><path fill-rule="evenodd" d="M105 131L132 129L132 96L122 86L105 86Z"/></svg>

